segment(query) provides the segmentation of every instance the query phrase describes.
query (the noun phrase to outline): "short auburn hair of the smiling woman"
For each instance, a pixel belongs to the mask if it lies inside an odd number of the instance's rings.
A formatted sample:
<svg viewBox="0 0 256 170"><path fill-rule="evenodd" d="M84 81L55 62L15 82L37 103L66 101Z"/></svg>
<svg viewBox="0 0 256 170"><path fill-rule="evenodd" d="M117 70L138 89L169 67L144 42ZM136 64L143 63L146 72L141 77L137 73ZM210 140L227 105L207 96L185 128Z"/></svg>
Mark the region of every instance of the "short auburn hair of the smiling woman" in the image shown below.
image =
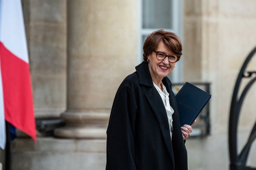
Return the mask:
<svg viewBox="0 0 256 170"><path fill-rule="evenodd" d="M175 33L162 29L154 31L146 38L143 45L143 60L147 62L147 56L149 56L153 50L158 47L160 41L164 42L164 44L170 48L170 50L178 57L177 61L179 61L182 55L182 44L180 38L178 38Z"/></svg>

